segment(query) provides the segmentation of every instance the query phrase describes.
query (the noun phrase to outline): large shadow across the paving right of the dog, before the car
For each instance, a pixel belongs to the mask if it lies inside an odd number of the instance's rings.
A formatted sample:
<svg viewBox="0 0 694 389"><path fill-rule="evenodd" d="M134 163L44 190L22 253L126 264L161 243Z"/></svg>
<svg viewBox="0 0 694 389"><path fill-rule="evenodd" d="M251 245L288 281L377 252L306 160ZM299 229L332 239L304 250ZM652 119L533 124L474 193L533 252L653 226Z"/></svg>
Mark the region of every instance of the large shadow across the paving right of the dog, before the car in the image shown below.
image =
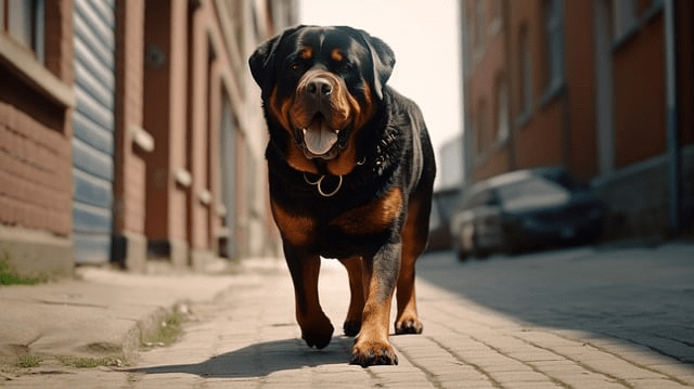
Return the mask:
<svg viewBox="0 0 694 389"><path fill-rule="evenodd" d="M417 277L526 323L618 338L694 363L693 252L689 245L578 247L460 262L442 251L417 261Z"/></svg>

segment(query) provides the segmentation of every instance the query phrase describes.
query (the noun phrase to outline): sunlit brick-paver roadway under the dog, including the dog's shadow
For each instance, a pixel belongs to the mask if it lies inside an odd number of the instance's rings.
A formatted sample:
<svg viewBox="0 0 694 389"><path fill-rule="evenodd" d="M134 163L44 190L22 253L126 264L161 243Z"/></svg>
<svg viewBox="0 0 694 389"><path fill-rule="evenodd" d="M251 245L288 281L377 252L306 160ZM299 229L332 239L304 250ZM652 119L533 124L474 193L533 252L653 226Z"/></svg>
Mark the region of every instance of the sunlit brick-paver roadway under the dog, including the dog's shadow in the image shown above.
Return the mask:
<svg viewBox="0 0 694 389"><path fill-rule="evenodd" d="M464 267L461 271L465 271ZM338 334L324 350L308 349L298 339L290 276L279 262L273 269L240 276L237 285L217 300L193 307L193 320L187 323L183 338L171 347L142 352L137 367L56 368L53 374L25 375L0 381L0 386L28 388L50 382L56 388L133 389L694 387L691 342L670 340L677 343L670 347L681 350L678 355L666 355L624 338L522 320L436 286L425 277L419 278L416 287L424 333L390 338L399 355L398 366L349 365L354 340ZM336 262L323 267L320 288L326 314L340 328L347 311L348 287L346 274ZM682 330L691 332L694 324L689 324Z"/></svg>

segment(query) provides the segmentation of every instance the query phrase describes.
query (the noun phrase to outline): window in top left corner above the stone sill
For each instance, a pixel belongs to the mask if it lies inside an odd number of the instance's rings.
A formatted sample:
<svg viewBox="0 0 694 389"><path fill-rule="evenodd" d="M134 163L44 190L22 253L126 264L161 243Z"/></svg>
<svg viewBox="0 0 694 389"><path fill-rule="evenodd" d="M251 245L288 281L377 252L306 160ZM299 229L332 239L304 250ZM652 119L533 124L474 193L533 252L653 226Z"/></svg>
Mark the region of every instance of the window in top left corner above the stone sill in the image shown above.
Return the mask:
<svg viewBox="0 0 694 389"><path fill-rule="evenodd" d="M44 0L0 0L0 31L29 48L43 63Z"/></svg>

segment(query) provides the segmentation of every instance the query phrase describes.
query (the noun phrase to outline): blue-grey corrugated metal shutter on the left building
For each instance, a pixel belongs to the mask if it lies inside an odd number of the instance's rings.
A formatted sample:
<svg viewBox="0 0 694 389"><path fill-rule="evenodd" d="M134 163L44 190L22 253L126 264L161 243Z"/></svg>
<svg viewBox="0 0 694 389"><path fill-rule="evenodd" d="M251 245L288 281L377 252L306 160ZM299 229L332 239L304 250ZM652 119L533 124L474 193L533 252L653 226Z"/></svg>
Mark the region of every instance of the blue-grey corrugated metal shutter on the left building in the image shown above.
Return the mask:
<svg viewBox="0 0 694 389"><path fill-rule="evenodd" d="M113 230L114 0L76 0L73 236L77 263L110 260Z"/></svg>

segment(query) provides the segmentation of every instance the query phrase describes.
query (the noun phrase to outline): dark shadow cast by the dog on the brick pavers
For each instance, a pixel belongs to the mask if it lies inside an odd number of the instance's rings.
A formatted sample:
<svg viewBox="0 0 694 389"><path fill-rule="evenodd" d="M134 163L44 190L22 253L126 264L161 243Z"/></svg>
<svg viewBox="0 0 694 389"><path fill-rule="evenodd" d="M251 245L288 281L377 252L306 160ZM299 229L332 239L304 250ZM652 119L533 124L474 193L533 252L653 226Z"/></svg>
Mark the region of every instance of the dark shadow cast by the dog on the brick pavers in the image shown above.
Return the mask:
<svg viewBox="0 0 694 389"><path fill-rule="evenodd" d="M266 377L281 371L331 364L345 365L354 338L333 337L322 350L309 349L301 339L283 339L255 343L222 353L201 363L138 367L127 373L194 374L205 378Z"/></svg>

